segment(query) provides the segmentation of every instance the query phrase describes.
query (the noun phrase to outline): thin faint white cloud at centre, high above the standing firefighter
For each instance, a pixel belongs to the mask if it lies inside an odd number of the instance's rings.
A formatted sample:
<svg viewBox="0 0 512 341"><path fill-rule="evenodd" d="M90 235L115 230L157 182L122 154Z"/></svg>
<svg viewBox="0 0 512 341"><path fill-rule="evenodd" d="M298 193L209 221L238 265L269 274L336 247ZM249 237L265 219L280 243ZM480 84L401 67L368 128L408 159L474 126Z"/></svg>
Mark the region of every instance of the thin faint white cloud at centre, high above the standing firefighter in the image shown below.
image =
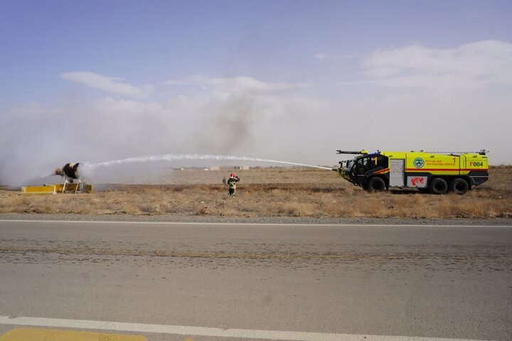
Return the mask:
<svg viewBox="0 0 512 341"><path fill-rule="evenodd" d="M264 93L306 87L306 83L262 82L253 77L211 78L206 75L191 75L183 80L168 80L167 85L199 85L228 92Z"/></svg>

